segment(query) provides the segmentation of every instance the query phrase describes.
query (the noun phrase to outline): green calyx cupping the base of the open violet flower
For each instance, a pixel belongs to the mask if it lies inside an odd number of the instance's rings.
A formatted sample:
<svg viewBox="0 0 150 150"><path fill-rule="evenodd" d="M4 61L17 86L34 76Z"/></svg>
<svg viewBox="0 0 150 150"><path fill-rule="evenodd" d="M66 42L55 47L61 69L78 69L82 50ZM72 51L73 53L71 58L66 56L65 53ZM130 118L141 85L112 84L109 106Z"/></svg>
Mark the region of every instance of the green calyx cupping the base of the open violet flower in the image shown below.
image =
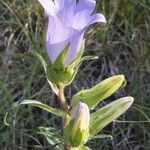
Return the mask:
<svg viewBox="0 0 150 150"><path fill-rule="evenodd" d="M52 80L55 84L63 83L64 85L69 85L74 79L77 73L77 61L81 59L81 54L83 52L82 48L77 58L71 63L71 65L65 67L64 62L69 49L69 44L64 48L64 50L59 54L57 59L55 60L52 67L48 70L48 78ZM77 67L77 68L76 68Z"/></svg>

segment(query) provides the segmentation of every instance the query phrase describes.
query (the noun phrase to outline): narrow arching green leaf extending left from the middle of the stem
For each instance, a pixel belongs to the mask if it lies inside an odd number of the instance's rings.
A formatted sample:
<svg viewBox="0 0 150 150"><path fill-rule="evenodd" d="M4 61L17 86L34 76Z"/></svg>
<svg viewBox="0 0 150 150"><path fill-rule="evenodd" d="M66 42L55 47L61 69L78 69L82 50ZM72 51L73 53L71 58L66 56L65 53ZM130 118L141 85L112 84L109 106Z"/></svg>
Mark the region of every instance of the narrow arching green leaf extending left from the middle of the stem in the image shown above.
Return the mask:
<svg viewBox="0 0 150 150"><path fill-rule="evenodd" d="M59 116L59 117L65 117L66 116L66 113L63 112L62 110L50 107L50 106L43 104L43 103L36 101L36 100L24 100L23 102L20 103L20 105L25 105L25 104L39 107L39 108L46 110L46 111L48 111L48 112L50 112L56 116Z"/></svg>

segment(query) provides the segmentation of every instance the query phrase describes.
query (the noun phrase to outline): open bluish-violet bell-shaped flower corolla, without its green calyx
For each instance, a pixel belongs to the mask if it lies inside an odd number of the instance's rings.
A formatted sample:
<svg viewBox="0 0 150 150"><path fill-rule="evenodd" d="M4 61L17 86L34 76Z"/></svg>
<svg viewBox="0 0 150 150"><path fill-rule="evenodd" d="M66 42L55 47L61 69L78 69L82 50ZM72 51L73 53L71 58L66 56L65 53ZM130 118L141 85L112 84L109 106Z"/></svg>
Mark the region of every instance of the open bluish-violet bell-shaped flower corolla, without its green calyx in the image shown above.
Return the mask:
<svg viewBox="0 0 150 150"><path fill-rule="evenodd" d="M52 63L70 43L64 66L78 55L86 28L96 22L105 23L102 14L93 14L95 0L38 0L48 17L46 49Z"/></svg>

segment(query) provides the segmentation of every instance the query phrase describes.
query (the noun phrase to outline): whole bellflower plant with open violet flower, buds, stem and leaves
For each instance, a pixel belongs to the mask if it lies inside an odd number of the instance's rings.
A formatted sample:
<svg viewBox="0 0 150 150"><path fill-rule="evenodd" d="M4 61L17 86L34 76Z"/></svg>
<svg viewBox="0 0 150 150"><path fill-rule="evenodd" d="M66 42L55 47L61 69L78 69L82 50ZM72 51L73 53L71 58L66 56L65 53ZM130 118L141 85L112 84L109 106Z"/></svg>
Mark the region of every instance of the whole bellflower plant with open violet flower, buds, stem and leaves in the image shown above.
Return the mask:
<svg viewBox="0 0 150 150"><path fill-rule="evenodd" d="M37 52L52 90L58 96L62 109L57 109L36 100L24 100L63 119L63 135L52 128L40 127L38 133L46 137L56 149L88 150L85 146L106 125L123 114L132 104L132 97L123 97L110 104L95 109L99 102L111 96L122 86L125 78L116 75L103 80L90 89L78 91L67 103L64 88L69 85L82 61L94 59L82 56L84 52L84 33L94 23L106 23L105 17L94 13L95 0L38 0L44 8L46 18L45 48L50 65Z"/></svg>

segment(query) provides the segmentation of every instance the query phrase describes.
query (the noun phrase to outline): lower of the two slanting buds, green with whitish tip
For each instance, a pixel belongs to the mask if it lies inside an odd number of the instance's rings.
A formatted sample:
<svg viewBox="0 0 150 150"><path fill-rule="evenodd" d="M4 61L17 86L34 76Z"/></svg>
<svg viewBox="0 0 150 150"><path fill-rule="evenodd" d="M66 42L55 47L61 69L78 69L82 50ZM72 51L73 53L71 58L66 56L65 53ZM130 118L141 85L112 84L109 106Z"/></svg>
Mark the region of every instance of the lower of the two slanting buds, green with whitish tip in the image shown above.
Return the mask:
<svg viewBox="0 0 150 150"><path fill-rule="evenodd" d="M123 97L91 114L90 137L123 114L133 103L132 97Z"/></svg>

